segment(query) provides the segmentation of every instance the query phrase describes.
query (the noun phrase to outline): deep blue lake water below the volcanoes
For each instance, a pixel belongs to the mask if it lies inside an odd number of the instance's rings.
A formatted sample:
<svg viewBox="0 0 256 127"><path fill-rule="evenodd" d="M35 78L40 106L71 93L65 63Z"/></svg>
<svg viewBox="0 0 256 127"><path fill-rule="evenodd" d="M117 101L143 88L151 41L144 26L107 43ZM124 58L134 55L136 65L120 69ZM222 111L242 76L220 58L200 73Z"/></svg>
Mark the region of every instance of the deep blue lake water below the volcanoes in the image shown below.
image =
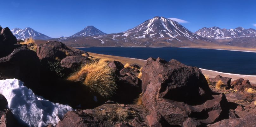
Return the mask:
<svg viewBox="0 0 256 127"><path fill-rule="evenodd" d="M177 59L181 63L219 72L256 75L256 53L195 48L144 48L144 47L90 47L83 51L147 59L161 57L166 61Z"/></svg>

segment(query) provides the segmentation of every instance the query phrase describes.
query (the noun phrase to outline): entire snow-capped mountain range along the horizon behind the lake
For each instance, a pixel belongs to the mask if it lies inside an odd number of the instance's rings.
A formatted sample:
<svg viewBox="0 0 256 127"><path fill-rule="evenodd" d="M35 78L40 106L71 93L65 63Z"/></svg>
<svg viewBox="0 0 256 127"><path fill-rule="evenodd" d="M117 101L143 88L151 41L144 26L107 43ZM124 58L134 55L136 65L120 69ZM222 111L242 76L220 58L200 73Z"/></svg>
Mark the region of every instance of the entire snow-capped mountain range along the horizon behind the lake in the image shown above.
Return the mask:
<svg viewBox="0 0 256 127"><path fill-rule="evenodd" d="M152 47L189 47L206 45L231 45L256 47L256 30L237 27L225 29L219 27L202 28L195 33L178 22L155 16L137 27L121 33L107 34L94 26L87 26L70 37L50 38L32 28L15 28L12 33L17 39L33 37L40 40L54 40L66 45L80 46L152 46Z"/></svg>

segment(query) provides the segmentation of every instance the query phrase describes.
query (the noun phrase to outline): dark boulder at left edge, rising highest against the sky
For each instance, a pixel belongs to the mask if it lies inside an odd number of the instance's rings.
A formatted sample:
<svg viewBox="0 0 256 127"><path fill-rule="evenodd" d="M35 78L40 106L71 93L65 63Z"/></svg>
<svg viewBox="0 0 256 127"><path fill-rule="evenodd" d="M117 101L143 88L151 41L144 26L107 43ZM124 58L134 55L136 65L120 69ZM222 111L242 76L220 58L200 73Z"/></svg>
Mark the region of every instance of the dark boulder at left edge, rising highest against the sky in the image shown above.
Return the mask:
<svg viewBox="0 0 256 127"><path fill-rule="evenodd" d="M16 37L8 27L0 28L0 58L9 55L15 48L21 47L17 44Z"/></svg>

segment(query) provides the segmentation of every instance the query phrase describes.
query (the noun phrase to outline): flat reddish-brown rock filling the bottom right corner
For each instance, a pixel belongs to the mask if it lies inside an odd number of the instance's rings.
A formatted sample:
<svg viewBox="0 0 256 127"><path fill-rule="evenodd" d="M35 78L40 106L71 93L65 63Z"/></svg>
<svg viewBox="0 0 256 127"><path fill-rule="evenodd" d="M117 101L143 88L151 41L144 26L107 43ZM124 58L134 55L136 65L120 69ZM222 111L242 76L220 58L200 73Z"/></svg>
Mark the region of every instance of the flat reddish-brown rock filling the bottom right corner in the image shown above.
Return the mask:
<svg viewBox="0 0 256 127"><path fill-rule="evenodd" d="M244 118L224 119L207 127L256 127L256 115L251 114Z"/></svg>

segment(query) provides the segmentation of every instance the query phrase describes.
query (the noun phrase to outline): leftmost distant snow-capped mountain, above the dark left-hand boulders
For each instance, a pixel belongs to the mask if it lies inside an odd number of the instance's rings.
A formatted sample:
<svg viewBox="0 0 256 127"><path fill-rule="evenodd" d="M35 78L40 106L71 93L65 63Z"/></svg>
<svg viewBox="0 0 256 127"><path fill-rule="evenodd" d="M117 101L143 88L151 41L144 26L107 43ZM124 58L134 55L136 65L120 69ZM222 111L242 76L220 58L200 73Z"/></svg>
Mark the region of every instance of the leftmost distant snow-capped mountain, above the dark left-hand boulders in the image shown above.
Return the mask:
<svg viewBox="0 0 256 127"><path fill-rule="evenodd" d="M13 30L11 30L11 32L17 39L27 39L30 37L37 40L52 39L51 37L48 37L45 34L39 33L30 27L27 27L25 29L14 28Z"/></svg>

